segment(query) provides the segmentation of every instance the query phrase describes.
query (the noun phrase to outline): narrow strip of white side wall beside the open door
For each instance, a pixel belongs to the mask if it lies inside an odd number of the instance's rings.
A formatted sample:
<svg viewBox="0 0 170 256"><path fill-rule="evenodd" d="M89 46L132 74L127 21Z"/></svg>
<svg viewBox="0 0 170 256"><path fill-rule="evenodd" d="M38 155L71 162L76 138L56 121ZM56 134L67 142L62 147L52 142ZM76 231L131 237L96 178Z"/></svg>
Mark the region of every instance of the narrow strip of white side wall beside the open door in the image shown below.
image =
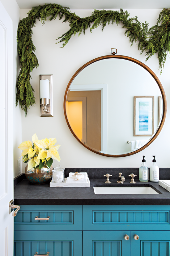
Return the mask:
<svg viewBox="0 0 170 256"><path fill-rule="evenodd" d="M20 107L15 108L15 96L16 96L16 81L19 74L19 56L17 52L17 28L19 24L19 16L20 9L15 0L1 0L3 6L11 17L13 23L13 57L11 57L11 61L13 61L13 114L14 114L14 126L11 127L11 132L14 132L14 177L18 175L18 165L17 159L21 155L20 150L18 149L18 145L21 141L21 109Z"/></svg>

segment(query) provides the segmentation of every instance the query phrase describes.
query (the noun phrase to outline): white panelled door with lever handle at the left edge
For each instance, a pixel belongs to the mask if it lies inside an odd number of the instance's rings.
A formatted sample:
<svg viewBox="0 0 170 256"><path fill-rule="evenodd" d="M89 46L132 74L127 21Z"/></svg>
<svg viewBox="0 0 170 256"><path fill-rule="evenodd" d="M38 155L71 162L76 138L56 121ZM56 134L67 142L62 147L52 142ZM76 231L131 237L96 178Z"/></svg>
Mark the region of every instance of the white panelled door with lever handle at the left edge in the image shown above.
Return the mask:
<svg viewBox="0 0 170 256"><path fill-rule="evenodd" d="M12 20L0 2L0 254L13 255L13 47Z"/></svg>

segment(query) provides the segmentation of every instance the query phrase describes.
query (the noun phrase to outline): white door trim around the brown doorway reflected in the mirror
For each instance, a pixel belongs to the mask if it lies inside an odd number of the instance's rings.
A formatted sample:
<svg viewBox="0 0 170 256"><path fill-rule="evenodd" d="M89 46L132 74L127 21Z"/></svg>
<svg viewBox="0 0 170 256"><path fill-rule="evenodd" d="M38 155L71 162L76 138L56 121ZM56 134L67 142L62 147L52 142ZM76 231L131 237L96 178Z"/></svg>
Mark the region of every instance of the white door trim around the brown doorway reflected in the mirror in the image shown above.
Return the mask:
<svg viewBox="0 0 170 256"><path fill-rule="evenodd" d="M71 85L70 91L101 91L101 150L100 152L107 154L107 84L76 84L76 85L73 84Z"/></svg>

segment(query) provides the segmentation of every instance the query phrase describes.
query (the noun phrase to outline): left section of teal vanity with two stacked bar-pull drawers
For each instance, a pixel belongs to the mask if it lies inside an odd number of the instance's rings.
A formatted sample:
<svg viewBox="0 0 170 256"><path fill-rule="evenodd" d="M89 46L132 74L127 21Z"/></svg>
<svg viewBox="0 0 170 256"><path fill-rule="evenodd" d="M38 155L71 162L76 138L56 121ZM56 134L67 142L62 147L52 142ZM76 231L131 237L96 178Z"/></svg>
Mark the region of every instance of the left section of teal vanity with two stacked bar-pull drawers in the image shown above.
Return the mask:
<svg viewBox="0 0 170 256"><path fill-rule="evenodd" d="M14 256L82 256L82 214L82 205L21 205Z"/></svg>

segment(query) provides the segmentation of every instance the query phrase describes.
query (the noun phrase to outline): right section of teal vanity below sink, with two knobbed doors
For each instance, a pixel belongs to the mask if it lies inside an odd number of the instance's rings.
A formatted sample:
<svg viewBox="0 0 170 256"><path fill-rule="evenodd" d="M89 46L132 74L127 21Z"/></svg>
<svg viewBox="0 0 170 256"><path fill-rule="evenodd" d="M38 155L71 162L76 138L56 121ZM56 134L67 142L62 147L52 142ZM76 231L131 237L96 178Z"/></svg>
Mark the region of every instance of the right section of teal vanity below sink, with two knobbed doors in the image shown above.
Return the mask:
<svg viewBox="0 0 170 256"><path fill-rule="evenodd" d="M169 211L165 205L83 206L83 256L169 256Z"/></svg>

